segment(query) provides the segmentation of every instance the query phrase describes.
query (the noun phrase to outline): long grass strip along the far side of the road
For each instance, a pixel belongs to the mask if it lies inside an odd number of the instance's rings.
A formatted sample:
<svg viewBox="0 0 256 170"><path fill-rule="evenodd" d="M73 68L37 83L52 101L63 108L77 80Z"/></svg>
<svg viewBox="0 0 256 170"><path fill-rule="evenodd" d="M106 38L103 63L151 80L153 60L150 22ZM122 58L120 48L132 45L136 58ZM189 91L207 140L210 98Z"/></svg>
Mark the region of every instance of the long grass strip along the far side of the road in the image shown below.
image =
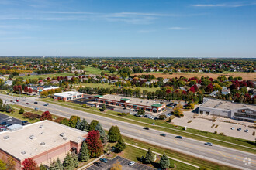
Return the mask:
<svg viewBox="0 0 256 170"><path fill-rule="evenodd" d="M104 117L109 117L112 119L116 119L119 121L125 121L131 124L137 124L140 126L147 126L149 128L155 129L155 130L159 130L159 131L165 131L171 134L177 134L177 135L181 135L183 137L187 137L187 138L193 138L199 141L207 141L207 142L212 142L214 145L222 145L228 148L235 148L237 150L241 150L241 151L247 151L247 152L251 152L251 153L256 153L255 149L251 149L251 148L255 148L255 143L254 141L248 141L245 139L241 139L241 138L234 138L234 137L229 137L229 136L225 136L225 135L221 135L221 134L214 134L211 132L207 132L207 131L200 131L200 130L196 130L196 129L192 129L192 128L187 128L187 130L184 130L184 127L181 126L176 126L173 124L169 124L165 121L159 121L159 120L151 120L151 119L147 119L147 118L143 118L143 117L135 117L133 115L127 115L124 117L118 116L118 112L116 111L111 111L111 110L107 110L106 112L101 112L99 111L98 108L95 107L90 107L89 109L86 108L82 108L80 104L74 104L71 102L57 102L54 101L53 99L47 98L47 99L40 99L42 101L47 101L49 103L52 104L58 104L64 107L69 107L72 109L76 109L76 110L81 110L81 111L87 111L88 113L91 114L97 114L100 116L104 116ZM152 123L154 123L155 125L151 125ZM217 141L217 140L221 140L221 141ZM227 141L230 143L226 143L223 141ZM233 144L237 144L237 145L233 145ZM241 145L241 146L239 146ZM243 146L247 146L250 148L245 148Z"/></svg>

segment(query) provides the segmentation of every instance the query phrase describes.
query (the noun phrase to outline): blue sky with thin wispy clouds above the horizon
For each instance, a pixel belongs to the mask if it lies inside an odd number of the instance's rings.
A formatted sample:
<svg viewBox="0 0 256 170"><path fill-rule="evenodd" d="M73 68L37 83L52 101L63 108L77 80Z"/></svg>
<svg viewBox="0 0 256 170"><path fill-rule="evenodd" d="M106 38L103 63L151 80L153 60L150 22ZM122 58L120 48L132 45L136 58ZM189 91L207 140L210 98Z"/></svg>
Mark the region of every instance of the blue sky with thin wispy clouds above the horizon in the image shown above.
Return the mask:
<svg viewBox="0 0 256 170"><path fill-rule="evenodd" d="M0 0L0 56L255 57L256 1Z"/></svg>

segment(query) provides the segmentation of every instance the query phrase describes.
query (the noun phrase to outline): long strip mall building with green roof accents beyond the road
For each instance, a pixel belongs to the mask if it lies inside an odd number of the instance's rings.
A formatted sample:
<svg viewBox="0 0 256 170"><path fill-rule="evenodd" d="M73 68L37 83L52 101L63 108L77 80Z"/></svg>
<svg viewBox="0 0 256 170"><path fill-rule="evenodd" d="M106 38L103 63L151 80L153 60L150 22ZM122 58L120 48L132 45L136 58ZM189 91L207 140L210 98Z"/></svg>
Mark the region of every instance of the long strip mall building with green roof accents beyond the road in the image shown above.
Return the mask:
<svg viewBox="0 0 256 170"><path fill-rule="evenodd" d="M119 107L133 108L133 109L143 109L145 111L150 111L153 113L161 113L165 110L165 104L156 103L153 100L144 100L132 97L121 97L117 95L107 94L104 96L95 96L95 101L102 104L110 104Z"/></svg>

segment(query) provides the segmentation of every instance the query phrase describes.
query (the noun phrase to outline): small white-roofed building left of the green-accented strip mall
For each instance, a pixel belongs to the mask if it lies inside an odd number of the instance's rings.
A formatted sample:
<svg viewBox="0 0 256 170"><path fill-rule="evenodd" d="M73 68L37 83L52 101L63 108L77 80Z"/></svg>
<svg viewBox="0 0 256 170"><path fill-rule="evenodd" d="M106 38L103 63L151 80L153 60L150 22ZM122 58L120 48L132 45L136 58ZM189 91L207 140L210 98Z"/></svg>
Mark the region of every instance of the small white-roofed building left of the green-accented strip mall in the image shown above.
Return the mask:
<svg viewBox="0 0 256 170"><path fill-rule="evenodd" d="M54 100L69 101L74 99L80 99L84 97L84 93L66 91L63 93L54 93Z"/></svg>

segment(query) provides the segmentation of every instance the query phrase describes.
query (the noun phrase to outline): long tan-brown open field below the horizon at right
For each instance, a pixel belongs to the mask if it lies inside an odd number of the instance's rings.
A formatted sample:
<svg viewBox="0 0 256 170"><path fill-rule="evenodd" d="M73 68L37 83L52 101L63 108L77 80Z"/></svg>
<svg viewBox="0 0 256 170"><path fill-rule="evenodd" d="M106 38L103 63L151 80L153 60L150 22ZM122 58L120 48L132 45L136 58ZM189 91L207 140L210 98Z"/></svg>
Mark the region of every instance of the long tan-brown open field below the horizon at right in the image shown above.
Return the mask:
<svg viewBox="0 0 256 170"><path fill-rule="evenodd" d="M194 76L209 76L213 79L216 79L218 76L241 76L243 80L256 80L256 73L173 73L173 74L164 74L164 73L133 73L133 75L142 75L142 74L152 74L156 77L163 77L163 78L175 78L180 76L185 76L186 78L191 78Z"/></svg>

